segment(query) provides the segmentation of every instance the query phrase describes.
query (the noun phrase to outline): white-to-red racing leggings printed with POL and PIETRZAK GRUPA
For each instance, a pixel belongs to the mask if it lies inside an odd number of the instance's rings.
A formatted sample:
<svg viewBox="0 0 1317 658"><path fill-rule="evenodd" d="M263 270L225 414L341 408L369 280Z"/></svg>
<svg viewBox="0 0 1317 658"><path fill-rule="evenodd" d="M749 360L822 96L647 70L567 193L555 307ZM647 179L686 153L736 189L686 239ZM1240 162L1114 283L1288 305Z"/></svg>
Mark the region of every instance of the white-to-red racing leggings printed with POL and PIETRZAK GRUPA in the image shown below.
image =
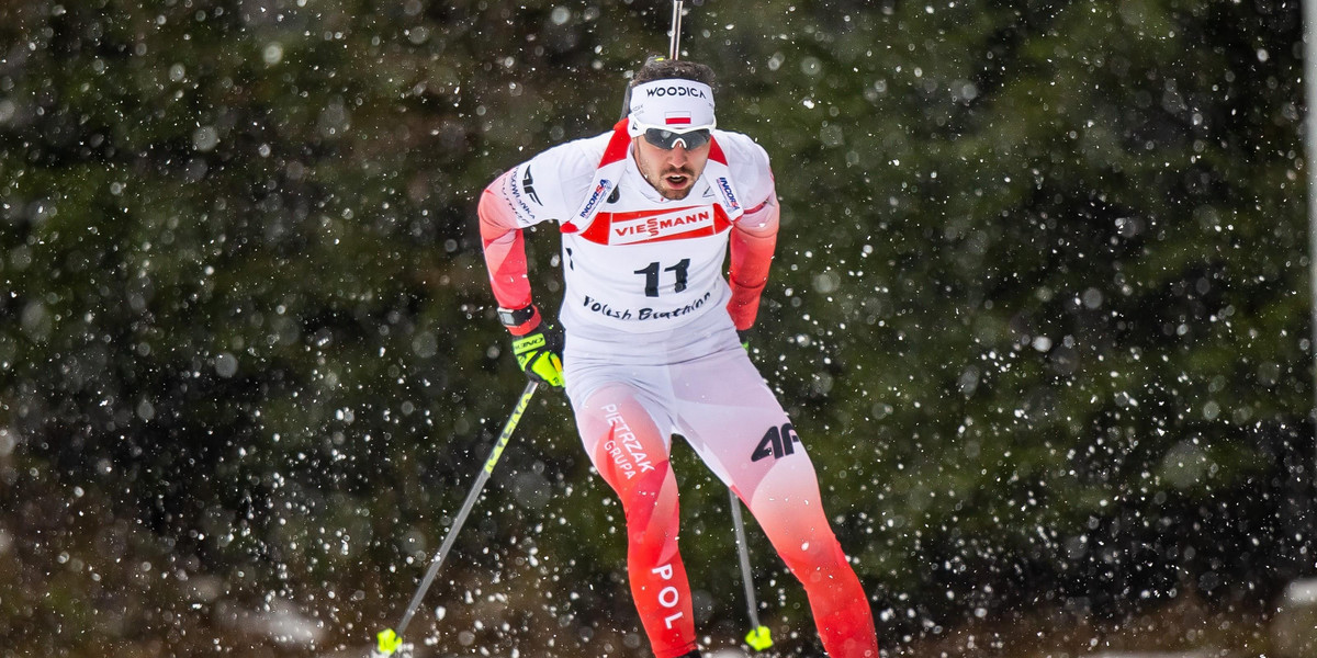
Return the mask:
<svg viewBox="0 0 1317 658"><path fill-rule="evenodd" d="M656 658L697 647L677 550L677 480L668 462L673 432L740 496L805 586L827 654L878 658L868 599L828 526L814 466L744 353L601 370L610 371L589 375L603 383L583 403L573 399L577 426L595 468L622 500L631 594Z"/></svg>

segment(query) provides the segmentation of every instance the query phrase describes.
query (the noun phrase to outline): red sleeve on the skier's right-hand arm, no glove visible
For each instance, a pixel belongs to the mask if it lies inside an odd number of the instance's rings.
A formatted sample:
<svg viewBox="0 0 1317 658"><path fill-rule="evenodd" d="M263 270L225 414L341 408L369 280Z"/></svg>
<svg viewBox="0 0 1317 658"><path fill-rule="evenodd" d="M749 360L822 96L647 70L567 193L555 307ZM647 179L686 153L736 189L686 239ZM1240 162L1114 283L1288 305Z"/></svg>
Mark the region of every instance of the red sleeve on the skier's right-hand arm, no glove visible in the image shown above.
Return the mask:
<svg viewBox="0 0 1317 658"><path fill-rule="evenodd" d="M759 296L768 283L768 267L773 262L773 247L777 245L777 225L780 211L777 201L768 200L747 212L731 234L731 266L728 282L732 287L732 300L727 312L732 316L736 329L749 329L759 315Z"/></svg>

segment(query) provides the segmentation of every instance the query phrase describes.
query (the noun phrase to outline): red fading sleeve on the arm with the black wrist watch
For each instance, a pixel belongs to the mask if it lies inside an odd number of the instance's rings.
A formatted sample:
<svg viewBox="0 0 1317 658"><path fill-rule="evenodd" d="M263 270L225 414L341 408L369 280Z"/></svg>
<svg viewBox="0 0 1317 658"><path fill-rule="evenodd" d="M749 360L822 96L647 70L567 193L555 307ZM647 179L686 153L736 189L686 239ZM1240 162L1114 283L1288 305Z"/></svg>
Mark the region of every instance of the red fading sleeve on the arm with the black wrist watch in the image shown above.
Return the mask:
<svg viewBox="0 0 1317 658"><path fill-rule="evenodd" d="M527 278L525 241L516 225L512 207L495 190L503 188L503 174L481 193L477 215L481 217L481 245L485 247L485 266L490 271L490 287L502 308L525 308L531 304L531 280ZM535 312L525 324L508 328L512 336L523 336L540 324Z"/></svg>

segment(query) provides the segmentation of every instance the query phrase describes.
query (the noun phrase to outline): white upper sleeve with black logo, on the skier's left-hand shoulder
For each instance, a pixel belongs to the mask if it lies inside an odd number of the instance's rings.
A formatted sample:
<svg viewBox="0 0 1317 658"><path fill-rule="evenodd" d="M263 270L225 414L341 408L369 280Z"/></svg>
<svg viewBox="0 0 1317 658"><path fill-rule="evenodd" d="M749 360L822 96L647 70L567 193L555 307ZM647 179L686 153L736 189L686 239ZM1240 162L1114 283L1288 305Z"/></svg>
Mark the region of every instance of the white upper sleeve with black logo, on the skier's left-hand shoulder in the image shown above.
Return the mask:
<svg viewBox="0 0 1317 658"><path fill-rule="evenodd" d="M595 143L598 141L577 139L554 146L518 164L502 179L503 184L494 192L507 200L519 226L562 222L576 213L607 143Z"/></svg>

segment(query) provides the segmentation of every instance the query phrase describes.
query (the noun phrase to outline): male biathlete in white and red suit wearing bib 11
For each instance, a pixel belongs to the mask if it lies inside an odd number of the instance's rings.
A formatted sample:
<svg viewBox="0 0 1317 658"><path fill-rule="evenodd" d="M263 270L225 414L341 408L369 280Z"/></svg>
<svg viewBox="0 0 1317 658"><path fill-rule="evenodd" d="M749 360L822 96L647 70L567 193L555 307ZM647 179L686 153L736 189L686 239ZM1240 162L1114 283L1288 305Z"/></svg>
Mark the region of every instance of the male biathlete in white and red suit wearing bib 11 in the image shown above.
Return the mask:
<svg viewBox="0 0 1317 658"><path fill-rule="evenodd" d="M673 434L755 515L803 584L827 654L878 658L814 466L739 336L768 280L778 207L764 149L715 129L712 82L705 64L651 59L611 132L549 149L485 190L499 318L522 370L566 388L581 441L620 497L631 592L656 658L699 655ZM565 341L527 279L523 229L543 221L562 238Z"/></svg>

